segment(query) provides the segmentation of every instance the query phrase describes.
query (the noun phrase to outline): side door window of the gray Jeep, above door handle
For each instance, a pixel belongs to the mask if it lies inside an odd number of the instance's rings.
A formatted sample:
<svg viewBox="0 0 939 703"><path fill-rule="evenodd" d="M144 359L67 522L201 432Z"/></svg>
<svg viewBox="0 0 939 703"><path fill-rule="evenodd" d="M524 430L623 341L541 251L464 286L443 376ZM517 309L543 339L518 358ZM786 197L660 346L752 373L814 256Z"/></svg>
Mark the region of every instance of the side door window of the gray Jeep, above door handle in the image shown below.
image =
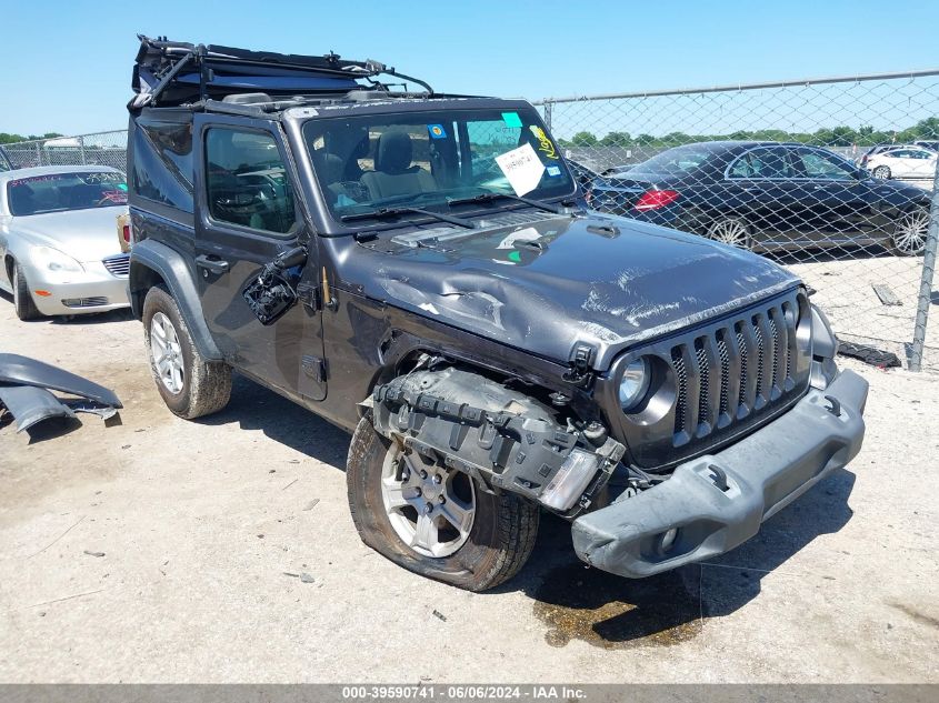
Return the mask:
<svg viewBox="0 0 939 703"><path fill-rule="evenodd" d="M219 222L286 234L297 218L273 137L211 128L206 134L206 198Z"/></svg>

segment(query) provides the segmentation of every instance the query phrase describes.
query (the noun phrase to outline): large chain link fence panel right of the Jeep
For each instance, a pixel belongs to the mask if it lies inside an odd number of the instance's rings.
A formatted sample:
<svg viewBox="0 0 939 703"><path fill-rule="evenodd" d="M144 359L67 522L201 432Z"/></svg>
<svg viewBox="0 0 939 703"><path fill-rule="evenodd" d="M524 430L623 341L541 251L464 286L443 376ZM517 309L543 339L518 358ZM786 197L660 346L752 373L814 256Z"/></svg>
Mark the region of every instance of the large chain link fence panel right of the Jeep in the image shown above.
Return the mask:
<svg viewBox="0 0 939 703"><path fill-rule="evenodd" d="M939 71L536 104L593 209L752 249L842 342L939 369Z"/></svg>

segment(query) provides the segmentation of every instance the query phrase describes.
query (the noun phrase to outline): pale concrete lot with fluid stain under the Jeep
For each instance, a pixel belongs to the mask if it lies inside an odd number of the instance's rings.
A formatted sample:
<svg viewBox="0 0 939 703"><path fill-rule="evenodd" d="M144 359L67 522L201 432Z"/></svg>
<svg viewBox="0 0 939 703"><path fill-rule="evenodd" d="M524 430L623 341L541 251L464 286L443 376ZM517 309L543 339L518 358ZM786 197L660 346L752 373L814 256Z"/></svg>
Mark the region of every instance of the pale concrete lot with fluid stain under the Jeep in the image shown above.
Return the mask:
<svg viewBox="0 0 939 703"><path fill-rule="evenodd" d="M0 429L0 681L939 682L937 375L846 363L865 450L722 559L619 580L545 520L521 575L470 594L359 542L342 432L242 379L219 415L171 415L128 315L0 300L0 349L126 405Z"/></svg>

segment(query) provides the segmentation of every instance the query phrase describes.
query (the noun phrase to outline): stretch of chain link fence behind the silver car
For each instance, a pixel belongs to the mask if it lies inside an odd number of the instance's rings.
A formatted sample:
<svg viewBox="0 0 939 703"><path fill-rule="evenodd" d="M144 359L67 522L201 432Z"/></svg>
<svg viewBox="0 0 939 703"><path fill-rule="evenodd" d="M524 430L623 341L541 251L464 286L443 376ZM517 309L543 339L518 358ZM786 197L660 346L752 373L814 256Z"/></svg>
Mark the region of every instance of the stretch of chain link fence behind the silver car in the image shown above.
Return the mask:
<svg viewBox="0 0 939 703"><path fill-rule="evenodd" d="M110 165L127 172L127 130L0 144L10 165Z"/></svg>

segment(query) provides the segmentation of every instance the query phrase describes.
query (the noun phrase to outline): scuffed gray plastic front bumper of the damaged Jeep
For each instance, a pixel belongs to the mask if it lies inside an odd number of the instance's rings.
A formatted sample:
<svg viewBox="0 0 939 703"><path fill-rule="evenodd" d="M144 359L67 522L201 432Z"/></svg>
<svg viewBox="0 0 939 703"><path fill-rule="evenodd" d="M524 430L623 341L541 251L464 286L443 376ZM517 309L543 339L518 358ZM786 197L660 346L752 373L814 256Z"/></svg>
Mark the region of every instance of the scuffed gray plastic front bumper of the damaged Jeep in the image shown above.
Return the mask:
<svg viewBox="0 0 939 703"><path fill-rule="evenodd" d="M582 515L572 525L577 555L639 579L730 551L857 455L867 392L867 381L845 371L726 450L680 464L657 486Z"/></svg>

